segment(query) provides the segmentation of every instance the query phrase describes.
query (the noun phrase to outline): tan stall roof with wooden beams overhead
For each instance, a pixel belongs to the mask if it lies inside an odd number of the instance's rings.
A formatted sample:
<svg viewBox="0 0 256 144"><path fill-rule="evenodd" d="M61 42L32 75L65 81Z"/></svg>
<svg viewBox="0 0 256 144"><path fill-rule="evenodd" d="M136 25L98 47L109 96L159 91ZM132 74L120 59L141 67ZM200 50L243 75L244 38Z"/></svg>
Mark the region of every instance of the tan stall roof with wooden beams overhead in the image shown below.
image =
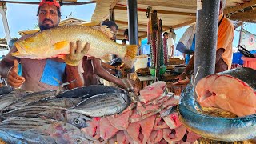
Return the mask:
<svg viewBox="0 0 256 144"><path fill-rule="evenodd" d="M123 38L123 32L128 28L126 0L97 0L97 6L92 16L93 22L101 22L109 18L110 9L114 9L115 22L118 24L118 38ZM138 35L146 37L146 9L158 11L162 19L163 30L187 26L196 21L197 0L137 0L138 2ZM256 0L226 0L225 14L231 20L256 22Z"/></svg>

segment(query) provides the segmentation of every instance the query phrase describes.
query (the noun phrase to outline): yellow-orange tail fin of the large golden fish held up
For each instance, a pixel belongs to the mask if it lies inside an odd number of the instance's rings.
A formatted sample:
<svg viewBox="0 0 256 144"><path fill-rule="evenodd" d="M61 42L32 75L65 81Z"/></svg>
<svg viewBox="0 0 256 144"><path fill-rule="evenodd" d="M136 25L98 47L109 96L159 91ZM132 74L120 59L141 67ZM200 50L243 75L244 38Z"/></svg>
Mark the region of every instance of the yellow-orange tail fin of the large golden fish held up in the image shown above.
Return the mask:
<svg viewBox="0 0 256 144"><path fill-rule="evenodd" d="M126 45L126 56L121 58L122 62L124 62L127 67L132 68L136 60L137 52L137 45Z"/></svg>

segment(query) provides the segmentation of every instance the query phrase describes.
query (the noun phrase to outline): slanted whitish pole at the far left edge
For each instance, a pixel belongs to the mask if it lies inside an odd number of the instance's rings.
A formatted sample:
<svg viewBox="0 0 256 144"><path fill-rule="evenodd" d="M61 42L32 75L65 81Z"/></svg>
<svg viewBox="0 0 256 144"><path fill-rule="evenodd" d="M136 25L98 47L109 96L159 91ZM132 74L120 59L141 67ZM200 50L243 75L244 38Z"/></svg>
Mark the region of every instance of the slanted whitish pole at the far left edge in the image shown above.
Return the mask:
<svg viewBox="0 0 256 144"><path fill-rule="evenodd" d="M6 17L6 3L4 2L0 2L0 13L2 15L2 23L6 32L6 42L7 42L7 47L8 50L10 50L11 47L8 46L9 42L10 42L10 30L9 30L9 26L8 26L8 21L7 21L7 17Z"/></svg>

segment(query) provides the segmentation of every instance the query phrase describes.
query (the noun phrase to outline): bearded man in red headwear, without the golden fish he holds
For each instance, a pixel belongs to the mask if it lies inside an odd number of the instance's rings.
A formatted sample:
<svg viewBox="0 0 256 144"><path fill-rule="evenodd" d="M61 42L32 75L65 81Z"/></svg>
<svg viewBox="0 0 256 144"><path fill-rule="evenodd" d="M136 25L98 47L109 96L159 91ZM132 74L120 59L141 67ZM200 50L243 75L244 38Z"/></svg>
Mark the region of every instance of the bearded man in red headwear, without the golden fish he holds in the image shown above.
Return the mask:
<svg viewBox="0 0 256 144"><path fill-rule="evenodd" d="M38 6L38 26L40 30L49 30L58 26L61 19L61 7L56 0L42 0ZM22 36L19 40L29 38L30 35ZM65 62L80 62L89 50L90 45L86 43L82 46L81 42L70 42L70 50L74 53L66 54L63 61L59 58L48 58L43 60L29 58L15 58L11 54L17 51L14 46L10 49L0 62L0 74L6 78L9 86L14 88L21 87L23 90L42 91L57 90L59 85L64 82L70 82L67 86L69 89L83 86L82 73L78 66L69 66ZM84 53L82 53L84 52ZM22 64L22 76L17 74L18 62Z"/></svg>

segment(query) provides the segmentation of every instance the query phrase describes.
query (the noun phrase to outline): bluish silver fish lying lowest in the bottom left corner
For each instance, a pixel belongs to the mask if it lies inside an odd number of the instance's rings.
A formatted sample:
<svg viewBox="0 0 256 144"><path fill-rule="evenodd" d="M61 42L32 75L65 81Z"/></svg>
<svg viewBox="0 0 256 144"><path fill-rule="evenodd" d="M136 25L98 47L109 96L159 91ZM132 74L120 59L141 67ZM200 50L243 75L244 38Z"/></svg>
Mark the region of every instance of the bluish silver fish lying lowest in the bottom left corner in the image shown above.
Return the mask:
<svg viewBox="0 0 256 144"><path fill-rule="evenodd" d="M34 122L33 119L23 118L23 121ZM43 121L43 120L42 120ZM50 122L43 124L30 123L22 125L23 129L6 125L0 126L0 138L7 143L93 143L94 138L86 135L77 127L64 122ZM26 127L27 126L27 127ZM33 126L33 127L31 127Z"/></svg>

